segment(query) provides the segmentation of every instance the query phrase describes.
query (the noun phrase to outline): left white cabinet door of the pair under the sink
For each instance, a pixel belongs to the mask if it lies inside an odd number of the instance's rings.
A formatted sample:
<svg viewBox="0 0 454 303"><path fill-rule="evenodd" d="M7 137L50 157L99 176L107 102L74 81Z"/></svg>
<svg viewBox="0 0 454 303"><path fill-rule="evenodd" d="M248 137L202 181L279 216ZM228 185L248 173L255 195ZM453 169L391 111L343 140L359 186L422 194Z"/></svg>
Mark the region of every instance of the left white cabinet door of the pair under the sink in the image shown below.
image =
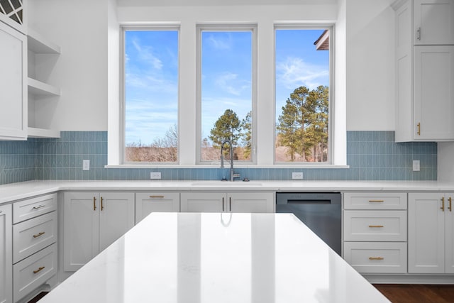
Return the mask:
<svg viewBox="0 0 454 303"><path fill-rule="evenodd" d="M226 194L219 192L189 192L181 194L181 211L226 211Z"/></svg>

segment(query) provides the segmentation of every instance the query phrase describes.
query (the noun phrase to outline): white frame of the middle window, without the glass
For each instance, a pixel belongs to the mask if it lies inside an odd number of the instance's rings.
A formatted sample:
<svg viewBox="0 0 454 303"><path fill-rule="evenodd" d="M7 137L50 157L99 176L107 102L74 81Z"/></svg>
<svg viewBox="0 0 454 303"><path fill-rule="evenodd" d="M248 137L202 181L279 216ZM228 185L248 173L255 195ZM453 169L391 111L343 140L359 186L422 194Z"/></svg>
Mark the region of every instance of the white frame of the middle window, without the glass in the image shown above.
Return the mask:
<svg viewBox="0 0 454 303"><path fill-rule="evenodd" d="M252 126L251 126L251 153L250 160L234 160L239 165L257 164L257 140L258 140L258 25L222 23L222 24L196 24L196 165L211 165L213 160L201 160L201 33L203 31L250 31L252 33Z"/></svg>

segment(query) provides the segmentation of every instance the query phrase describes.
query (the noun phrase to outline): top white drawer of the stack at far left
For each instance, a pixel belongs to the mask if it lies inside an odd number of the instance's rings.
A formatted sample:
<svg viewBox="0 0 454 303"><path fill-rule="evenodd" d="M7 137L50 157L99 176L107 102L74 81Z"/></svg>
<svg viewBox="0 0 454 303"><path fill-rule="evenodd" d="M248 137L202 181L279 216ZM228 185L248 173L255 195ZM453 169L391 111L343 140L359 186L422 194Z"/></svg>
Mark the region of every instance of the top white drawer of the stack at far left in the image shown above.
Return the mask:
<svg viewBox="0 0 454 303"><path fill-rule="evenodd" d="M13 203L13 224L57 209L57 194L47 194Z"/></svg>

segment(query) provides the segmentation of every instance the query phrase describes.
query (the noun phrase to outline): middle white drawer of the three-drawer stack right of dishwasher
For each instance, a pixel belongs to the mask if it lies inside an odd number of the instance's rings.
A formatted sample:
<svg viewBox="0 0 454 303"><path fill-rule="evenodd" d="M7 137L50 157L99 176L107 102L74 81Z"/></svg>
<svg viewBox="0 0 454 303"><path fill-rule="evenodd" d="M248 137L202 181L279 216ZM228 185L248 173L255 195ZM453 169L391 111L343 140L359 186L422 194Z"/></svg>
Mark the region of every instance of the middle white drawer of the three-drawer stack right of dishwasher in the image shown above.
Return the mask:
<svg viewBox="0 0 454 303"><path fill-rule="evenodd" d="M406 211L344 211L344 241L406 241Z"/></svg>

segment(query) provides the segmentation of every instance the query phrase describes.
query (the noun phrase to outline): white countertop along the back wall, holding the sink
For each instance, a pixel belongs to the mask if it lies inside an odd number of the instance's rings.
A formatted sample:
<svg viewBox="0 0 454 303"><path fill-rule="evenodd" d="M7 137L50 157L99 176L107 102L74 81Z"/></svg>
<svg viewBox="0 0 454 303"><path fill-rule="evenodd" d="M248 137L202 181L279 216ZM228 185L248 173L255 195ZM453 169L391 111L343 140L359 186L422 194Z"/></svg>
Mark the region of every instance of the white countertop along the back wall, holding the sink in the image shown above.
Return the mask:
<svg viewBox="0 0 454 303"><path fill-rule="evenodd" d="M84 191L441 191L454 190L453 183L436 181L74 181L36 180L0 185L0 204L60 190Z"/></svg>

